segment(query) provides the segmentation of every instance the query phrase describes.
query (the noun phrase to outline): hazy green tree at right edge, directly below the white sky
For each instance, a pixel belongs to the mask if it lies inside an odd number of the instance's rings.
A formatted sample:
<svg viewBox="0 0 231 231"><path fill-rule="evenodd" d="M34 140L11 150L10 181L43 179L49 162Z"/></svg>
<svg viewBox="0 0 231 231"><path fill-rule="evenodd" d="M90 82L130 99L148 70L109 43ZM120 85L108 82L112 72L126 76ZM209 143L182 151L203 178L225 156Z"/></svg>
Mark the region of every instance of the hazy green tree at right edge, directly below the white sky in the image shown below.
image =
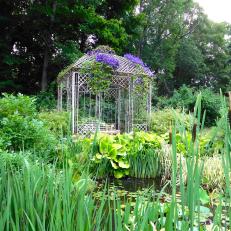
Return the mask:
<svg viewBox="0 0 231 231"><path fill-rule="evenodd" d="M197 15L196 29L190 34L187 41L183 43L179 51L178 58L185 54L184 60L193 61L187 65L181 58L178 59L176 68L176 80L180 78L190 79L191 84L204 87L212 87L214 90L226 90L230 81L230 64L228 62L230 54L228 53L227 39L229 25L227 23L215 23L210 21L207 16L200 12ZM191 54L189 52L190 44ZM188 63L189 64L189 63ZM196 66L195 66L196 64ZM185 68L187 66L187 69ZM184 76L179 75L180 70L184 70ZM194 71L194 76L192 76ZM188 82L186 82L187 84Z"/></svg>

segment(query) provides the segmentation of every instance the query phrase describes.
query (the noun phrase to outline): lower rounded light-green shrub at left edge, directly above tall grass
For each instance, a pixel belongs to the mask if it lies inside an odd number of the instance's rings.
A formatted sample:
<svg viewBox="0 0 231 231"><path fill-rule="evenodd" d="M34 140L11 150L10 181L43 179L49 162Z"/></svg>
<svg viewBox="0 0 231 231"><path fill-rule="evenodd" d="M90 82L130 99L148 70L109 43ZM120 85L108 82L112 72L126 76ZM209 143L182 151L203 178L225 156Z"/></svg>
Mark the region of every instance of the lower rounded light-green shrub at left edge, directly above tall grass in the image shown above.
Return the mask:
<svg viewBox="0 0 231 231"><path fill-rule="evenodd" d="M30 149L45 154L52 151L56 143L42 121L19 115L2 119L0 136L3 138L3 148L14 151Z"/></svg>

